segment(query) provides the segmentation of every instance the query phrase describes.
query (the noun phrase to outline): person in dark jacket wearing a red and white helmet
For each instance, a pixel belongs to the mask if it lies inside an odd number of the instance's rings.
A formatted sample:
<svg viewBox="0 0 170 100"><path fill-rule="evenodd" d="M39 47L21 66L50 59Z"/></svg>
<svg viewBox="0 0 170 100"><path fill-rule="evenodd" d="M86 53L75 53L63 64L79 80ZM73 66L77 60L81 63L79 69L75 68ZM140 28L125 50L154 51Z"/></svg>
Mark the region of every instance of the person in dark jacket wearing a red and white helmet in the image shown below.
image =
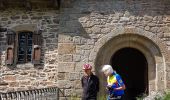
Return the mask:
<svg viewBox="0 0 170 100"><path fill-rule="evenodd" d="M97 100L99 92L99 78L92 73L90 64L83 65L84 75L81 78L83 88L82 100Z"/></svg>

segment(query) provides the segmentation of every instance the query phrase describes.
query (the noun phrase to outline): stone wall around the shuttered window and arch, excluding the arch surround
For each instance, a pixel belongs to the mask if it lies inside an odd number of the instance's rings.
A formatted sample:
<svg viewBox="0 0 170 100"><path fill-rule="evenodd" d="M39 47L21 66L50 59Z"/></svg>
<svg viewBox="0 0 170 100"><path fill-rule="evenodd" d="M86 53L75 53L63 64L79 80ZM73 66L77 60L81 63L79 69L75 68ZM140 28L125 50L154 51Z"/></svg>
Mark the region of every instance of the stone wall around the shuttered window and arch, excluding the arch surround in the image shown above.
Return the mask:
<svg viewBox="0 0 170 100"><path fill-rule="evenodd" d="M1 81L7 84L2 84L0 90L59 86L66 96L81 96L82 65L88 62L95 66L95 59L90 58L93 56L91 51L97 52L100 46L96 43L109 33L115 34L117 28L133 27L150 32L166 44L166 47L159 47L161 50L169 50L169 9L168 0L74 0L59 11L7 9L0 13L0 26L3 28L35 24L43 30L43 66L39 69L24 64L17 65L14 70L8 68L5 65L6 32L1 32L0 75ZM163 57L168 64L169 55ZM169 67L163 71L169 88Z"/></svg>

